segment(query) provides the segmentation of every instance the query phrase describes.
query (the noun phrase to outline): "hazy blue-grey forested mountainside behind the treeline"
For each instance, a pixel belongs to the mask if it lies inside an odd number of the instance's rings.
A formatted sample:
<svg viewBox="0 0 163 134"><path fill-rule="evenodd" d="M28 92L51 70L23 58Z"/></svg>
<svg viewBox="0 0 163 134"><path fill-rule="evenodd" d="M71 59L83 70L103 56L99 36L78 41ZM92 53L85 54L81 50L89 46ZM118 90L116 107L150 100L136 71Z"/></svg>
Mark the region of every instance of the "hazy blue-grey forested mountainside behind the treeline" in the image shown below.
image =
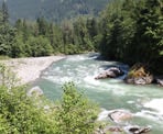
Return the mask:
<svg viewBox="0 0 163 134"><path fill-rule="evenodd" d="M0 0L2 2L3 0ZM98 14L109 0L8 0L11 21L44 16L54 22L79 14Z"/></svg>

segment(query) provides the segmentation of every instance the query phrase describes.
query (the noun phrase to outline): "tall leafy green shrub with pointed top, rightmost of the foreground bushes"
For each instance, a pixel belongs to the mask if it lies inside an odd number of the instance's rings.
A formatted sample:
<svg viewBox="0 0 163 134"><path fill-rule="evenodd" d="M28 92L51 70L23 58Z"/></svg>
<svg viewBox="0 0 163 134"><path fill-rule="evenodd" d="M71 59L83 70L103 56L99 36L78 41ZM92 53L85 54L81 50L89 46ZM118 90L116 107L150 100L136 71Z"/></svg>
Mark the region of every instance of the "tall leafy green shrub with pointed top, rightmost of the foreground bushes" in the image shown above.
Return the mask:
<svg viewBox="0 0 163 134"><path fill-rule="evenodd" d="M95 131L97 107L69 82L63 88L63 99L56 114L57 134L91 134Z"/></svg>

